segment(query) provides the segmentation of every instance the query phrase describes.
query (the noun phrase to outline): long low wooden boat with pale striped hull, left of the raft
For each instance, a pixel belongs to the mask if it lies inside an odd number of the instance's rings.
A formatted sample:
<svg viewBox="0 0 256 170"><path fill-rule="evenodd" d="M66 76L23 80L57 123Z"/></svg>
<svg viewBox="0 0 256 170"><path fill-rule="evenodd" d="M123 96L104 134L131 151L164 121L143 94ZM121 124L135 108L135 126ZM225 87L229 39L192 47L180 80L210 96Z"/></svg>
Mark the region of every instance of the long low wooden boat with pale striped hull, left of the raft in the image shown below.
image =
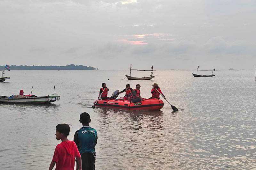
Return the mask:
<svg viewBox="0 0 256 170"><path fill-rule="evenodd" d="M60 100L60 96L52 94L51 96L40 96L35 95L12 95L0 96L0 103L13 103L13 104L46 104Z"/></svg>

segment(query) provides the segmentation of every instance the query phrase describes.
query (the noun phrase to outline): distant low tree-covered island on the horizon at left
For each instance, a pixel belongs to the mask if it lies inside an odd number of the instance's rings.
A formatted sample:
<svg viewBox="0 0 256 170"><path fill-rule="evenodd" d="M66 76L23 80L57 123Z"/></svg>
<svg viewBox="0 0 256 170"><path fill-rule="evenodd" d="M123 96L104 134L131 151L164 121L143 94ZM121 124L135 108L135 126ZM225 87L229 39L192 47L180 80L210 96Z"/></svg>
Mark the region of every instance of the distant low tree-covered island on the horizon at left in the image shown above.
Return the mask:
<svg viewBox="0 0 256 170"><path fill-rule="evenodd" d="M4 68L4 66L0 66ZM57 65L50 65L50 66L29 66L29 65L10 65L11 70L99 70L94 67L87 67L84 65L75 65L70 64L66 66L57 66ZM0 69L1 70L1 69Z"/></svg>

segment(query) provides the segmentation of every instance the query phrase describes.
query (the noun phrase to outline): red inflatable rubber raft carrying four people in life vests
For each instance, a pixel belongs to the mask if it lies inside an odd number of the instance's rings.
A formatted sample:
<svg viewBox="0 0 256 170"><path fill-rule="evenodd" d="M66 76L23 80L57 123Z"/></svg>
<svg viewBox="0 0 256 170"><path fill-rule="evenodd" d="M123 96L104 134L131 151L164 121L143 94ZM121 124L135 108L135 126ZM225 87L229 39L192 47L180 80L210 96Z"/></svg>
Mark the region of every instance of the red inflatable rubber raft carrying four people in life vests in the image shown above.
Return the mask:
<svg viewBox="0 0 256 170"><path fill-rule="evenodd" d="M94 104L98 100L94 101ZM160 110L164 106L163 100L160 99L144 99L137 103L132 103L129 100L99 100L96 107L119 108L124 110Z"/></svg>

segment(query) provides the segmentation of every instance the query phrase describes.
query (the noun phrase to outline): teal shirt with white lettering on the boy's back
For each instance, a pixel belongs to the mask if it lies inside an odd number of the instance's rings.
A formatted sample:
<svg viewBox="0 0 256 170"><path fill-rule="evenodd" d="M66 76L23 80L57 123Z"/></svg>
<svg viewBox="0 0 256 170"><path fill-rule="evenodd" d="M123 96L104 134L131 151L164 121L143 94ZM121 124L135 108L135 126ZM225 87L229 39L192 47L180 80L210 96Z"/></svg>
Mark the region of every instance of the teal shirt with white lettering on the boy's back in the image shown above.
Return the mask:
<svg viewBox="0 0 256 170"><path fill-rule="evenodd" d="M82 155L84 152L94 152L97 144L97 131L90 126L84 126L77 130L74 136L74 142Z"/></svg>

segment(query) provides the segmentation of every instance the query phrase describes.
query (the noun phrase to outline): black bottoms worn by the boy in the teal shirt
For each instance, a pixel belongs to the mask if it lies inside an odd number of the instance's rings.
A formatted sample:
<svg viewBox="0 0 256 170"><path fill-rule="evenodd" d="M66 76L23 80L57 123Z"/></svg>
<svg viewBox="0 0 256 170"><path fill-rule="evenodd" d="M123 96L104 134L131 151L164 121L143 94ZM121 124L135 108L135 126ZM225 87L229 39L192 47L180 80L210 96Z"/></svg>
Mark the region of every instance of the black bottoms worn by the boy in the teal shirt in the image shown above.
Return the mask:
<svg viewBox="0 0 256 170"><path fill-rule="evenodd" d="M82 170L95 170L95 159L96 154L92 152L84 152L81 155L82 159Z"/></svg>

